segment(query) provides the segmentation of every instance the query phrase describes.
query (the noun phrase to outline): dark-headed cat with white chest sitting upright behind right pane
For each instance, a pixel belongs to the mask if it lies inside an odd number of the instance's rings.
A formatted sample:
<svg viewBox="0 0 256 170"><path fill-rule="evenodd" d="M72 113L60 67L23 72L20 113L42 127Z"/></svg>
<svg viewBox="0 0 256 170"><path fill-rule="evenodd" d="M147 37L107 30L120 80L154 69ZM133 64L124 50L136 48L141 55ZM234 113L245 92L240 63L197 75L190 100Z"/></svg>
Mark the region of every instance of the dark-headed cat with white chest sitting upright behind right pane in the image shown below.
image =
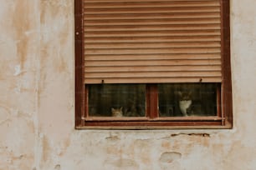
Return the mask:
<svg viewBox="0 0 256 170"><path fill-rule="evenodd" d="M187 117L192 106L192 92L177 92L179 97L179 108L184 117Z"/></svg>

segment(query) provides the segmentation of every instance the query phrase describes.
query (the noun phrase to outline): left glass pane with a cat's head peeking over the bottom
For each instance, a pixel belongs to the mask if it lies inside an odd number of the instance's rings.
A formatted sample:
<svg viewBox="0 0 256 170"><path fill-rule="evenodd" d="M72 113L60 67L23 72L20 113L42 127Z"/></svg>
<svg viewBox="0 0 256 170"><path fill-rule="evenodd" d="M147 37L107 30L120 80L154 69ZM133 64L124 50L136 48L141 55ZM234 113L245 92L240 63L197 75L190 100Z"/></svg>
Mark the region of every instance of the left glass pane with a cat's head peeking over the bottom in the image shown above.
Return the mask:
<svg viewBox="0 0 256 170"><path fill-rule="evenodd" d="M94 84L89 89L89 115L145 117L145 84Z"/></svg>

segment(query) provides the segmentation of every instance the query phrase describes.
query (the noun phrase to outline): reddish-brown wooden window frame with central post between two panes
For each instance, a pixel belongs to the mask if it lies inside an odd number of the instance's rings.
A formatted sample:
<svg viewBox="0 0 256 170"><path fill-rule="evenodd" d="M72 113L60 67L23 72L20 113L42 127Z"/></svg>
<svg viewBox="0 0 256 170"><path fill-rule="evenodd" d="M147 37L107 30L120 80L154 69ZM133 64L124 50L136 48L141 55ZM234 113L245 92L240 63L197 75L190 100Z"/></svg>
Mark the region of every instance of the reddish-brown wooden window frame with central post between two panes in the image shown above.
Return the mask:
<svg viewBox="0 0 256 170"><path fill-rule="evenodd" d="M229 0L222 0L222 74L218 88L217 117L158 117L157 84L146 84L146 117L89 117L88 88L84 86L82 0L74 0L75 37L75 128L76 129L193 129L233 128L230 64Z"/></svg>

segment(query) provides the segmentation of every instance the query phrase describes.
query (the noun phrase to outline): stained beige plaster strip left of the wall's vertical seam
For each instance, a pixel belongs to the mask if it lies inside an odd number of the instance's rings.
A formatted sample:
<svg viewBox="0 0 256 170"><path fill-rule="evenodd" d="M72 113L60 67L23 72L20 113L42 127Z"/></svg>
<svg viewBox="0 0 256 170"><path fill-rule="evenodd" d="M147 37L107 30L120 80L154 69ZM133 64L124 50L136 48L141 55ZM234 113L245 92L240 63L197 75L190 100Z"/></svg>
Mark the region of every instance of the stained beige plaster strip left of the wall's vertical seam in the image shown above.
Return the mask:
<svg viewBox="0 0 256 170"><path fill-rule="evenodd" d="M0 169L32 169L38 100L37 3L0 3Z"/></svg>

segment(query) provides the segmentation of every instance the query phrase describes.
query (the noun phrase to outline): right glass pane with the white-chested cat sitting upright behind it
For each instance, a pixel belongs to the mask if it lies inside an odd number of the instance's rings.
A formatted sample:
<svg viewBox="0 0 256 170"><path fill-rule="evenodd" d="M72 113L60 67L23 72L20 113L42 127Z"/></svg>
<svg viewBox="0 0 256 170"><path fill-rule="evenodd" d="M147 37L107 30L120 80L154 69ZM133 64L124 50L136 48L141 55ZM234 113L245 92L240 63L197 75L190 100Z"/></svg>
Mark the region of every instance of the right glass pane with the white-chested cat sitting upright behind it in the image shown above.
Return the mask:
<svg viewBox="0 0 256 170"><path fill-rule="evenodd" d="M160 117L217 116L218 83L158 85Z"/></svg>

